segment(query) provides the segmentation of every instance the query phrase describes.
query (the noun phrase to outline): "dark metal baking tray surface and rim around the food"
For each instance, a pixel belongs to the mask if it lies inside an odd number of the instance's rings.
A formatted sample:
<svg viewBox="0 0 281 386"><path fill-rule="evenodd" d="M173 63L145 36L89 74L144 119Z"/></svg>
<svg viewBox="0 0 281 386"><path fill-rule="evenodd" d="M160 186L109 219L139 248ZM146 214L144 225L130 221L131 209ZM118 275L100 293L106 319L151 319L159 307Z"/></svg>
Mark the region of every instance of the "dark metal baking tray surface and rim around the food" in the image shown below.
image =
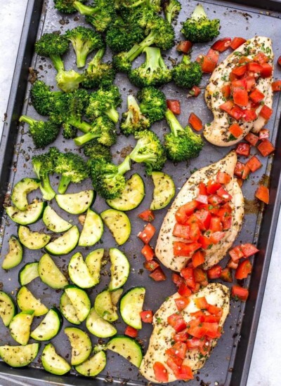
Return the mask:
<svg viewBox="0 0 281 386"><path fill-rule="evenodd" d="M228 1L201 1L210 18L221 19L221 36L243 36L245 38L251 38L255 34L266 34L273 39L273 48L275 57L278 57L280 52L281 41L281 3L279 1L261 1L261 0L244 0L237 2ZM181 22L188 18L192 9L197 4L197 1L182 0L183 9L176 25L177 40L183 39L180 33ZM241 5L243 4L243 5ZM248 4L248 5L247 5ZM260 8L254 8L260 7ZM263 9L265 8L266 9ZM0 207L1 207L1 244L3 245L1 255L5 255L8 248L8 238L11 234L17 232L16 225L6 218L3 211L4 201L8 200L8 194L13 189L14 182L17 182L25 176L34 175L31 166L31 157L38 151L34 150L32 141L27 135L27 127L22 128L18 126L18 118L23 114L31 114L33 117L38 117L30 101L28 99L30 91L30 83L27 81L29 76L29 67L33 67L38 71L39 79L43 79L47 84L55 86L55 72L51 68L51 62L42 60L42 58L34 55L34 42L42 32L51 32L53 30L59 30L64 32L66 29L74 27L76 25L84 24L84 17L77 14L74 15L62 15L54 10L53 1L42 0L29 0L27 4L27 12L25 15L25 23L22 30L22 36L20 40L20 48L18 51L18 59L15 66L15 74L13 77L13 84L11 88L11 95L8 102L7 117L4 123L4 131L0 145ZM206 53L211 44L196 44L192 53L192 58L196 58L199 53ZM222 60L228 51L223 53L220 57ZM177 58L175 49L164 53L166 63L171 66L171 58ZM107 51L108 58L110 53ZM65 66L67 69L75 67L74 55L72 49L70 53L66 55ZM136 64L139 64L143 60L138 58ZM275 69L275 76L281 76L280 69ZM208 76L204 76L202 86L207 84ZM136 88L129 84L126 76L118 74L115 83L119 86L124 97L124 102L120 112L126 109L126 95L131 91L136 91ZM211 121L211 112L207 109L203 95L198 98L186 98L186 91L176 88L174 84L168 84L163 88L167 98L176 98L181 100L182 114L179 117L181 124L186 124L190 112L198 114L203 122ZM281 133L278 133L280 126L280 94L275 95L274 98L274 116L268 123L270 128L271 140L273 143L280 143ZM157 132L160 137L167 131L167 125L165 121L161 121L155 124L153 130ZM117 145L113 149L115 154L114 160L116 163L122 160L122 149L126 150L126 147L133 145L133 138L125 138L124 135L120 135L117 141ZM62 136L54 143L60 149L73 149L75 152L79 152L79 149L74 149L72 140L63 140ZM171 162L167 162L164 170L166 173L173 175L176 183L177 192L181 188L185 180L190 176L190 171L194 168L201 168L207 166L211 162L218 161L225 154L228 153L230 148L219 148L206 143L200 157L192 159L188 164L182 162L181 164L174 165ZM259 157L261 159L261 157ZM230 315L226 320L224 327L225 333L219 340L217 347L211 354L207 364L200 370L195 376L195 380L190 382L192 385L246 385L247 375L249 372L249 366L251 362L251 353L254 347L254 339L256 335L257 325L259 323L259 314L261 310L261 304L263 300L263 292L266 285L266 277L268 274L268 266L270 263L270 255L273 247L273 240L275 237L275 229L277 225L277 218L281 201L281 150L277 147L274 156L266 159L262 158L263 167L253 176L250 180L245 182L242 189L244 197L247 201L246 215L244 218L244 225L242 232L237 238L237 242L254 242L258 245L260 253L256 255L254 260L254 270L251 274L251 278L247 279L244 283L245 286L249 286L249 300L246 304L240 304L240 302L231 301ZM171 282L171 272L168 269L164 269L167 280L160 283L153 282L148 277L148 272L143 270L143 257L141 256L141 241L138 240L136 234L143 227L143 222L136 217L136 214L147 208L152 198L152 180L144 174L143 166L133 165L133 172L138 171L145 181L146 197L139 208L129 213L131 219L132 232L130 241L127 242L120 249L126 253L131 262L131 274L129 280L125 285L125 289L131 286L143 285L147 288L145 296L145 309L157 310L159 305L162 304L166 296L176 292L174 284ZM259 207L256 201L253 201L256 185L264 179L264 175L270 175L270 204L263 208ZM53 183L57 182L53 177ZM86 180L83 185L70 186L68 192L76 192L80 189L86 189L91 187L91 181ZM53 200L54 201L54 200ZM60 210L56 206L55 202L52 203L55 210ZM105 202L97 198L93 204L93 208L101 212L106 208ZM157 212L154 225L159 229L162 219L166 213L166 209ZM75 223L77 217L72 215L67 216L63 214L64 218L72 219ZM31 226L32 229L44 229L43 222L39 221L37 224ZM156 237L153 239L156 241ZM94 248L98 248L102 245L105 248L115 246L115 241L112 239L107 230L103 234L103 244L98 244ZM93 248L91 248L93 249ZM83 251L82 248L77 248L77 251L81 251L86 255L89 251ZM26 262L38 260L41 257L43 251L27 251L25 250L22 265ZM54 257L55 262L59 267L67 267L67 262L70 256ZM20 268L19 267L19 268ZM109 267L106 266L103 269L103 277L100 284L92 288L89 291L91 300L95 298L96 293L100 292L109 282L107 277ZM18 269L15 268L10 272L1 270L0 281L3 283L4 291L15 293L18 284ZM48 307L51 305L58 305L60 293L59 291L46 288L46 285L41 283L39 279L33 281L28 285L32 293L37 297L40 297L44 304ZM39 319L34 321L35 324L39 324ZM68 322L64 321L63 327L67 326ZM120 333L124 331L124 324L119 318L117 322L117 328ZM145 325L140 332L140 338L143 341L143 345L146 348L150 338L152 327ZM1 326L1 338L0 344L14 344L12 338L9 335L8 329ZM98 340L95 337L91 337L93 343ZM70 345L65 338L63 330L53 340L58 352L63 356L70 355ZM79 376L75 376L74 372L64 377L59 377L46 373L40 366L40 355L36 361L28 368L10 368L3 362L0 362L0 373L6 375L16 375L21 378L33 379L33 380L45 380L54 382L57 385L85 385L87 380ZM130 385L140 385L147 383L147 381L138 374L138 370L131 366L128 361L122 357L118 357L117 354L107 352L107 366L105 371L98 375L94 381L97 385L101 385L103 382L118 382L128 383ZM181 382L175 382L180 384Z"/></svg>

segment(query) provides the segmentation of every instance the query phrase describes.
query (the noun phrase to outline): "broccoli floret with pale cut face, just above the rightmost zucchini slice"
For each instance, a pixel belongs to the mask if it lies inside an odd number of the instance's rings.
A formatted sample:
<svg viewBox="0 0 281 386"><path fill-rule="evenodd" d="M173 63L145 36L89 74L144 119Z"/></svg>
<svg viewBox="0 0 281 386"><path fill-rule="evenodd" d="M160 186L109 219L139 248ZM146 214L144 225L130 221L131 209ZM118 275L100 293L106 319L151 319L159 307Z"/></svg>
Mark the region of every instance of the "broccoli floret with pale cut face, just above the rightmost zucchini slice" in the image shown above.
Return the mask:
<svg viewBox="0 0 281 386"><path fill-rule="evenodd" d="M157 135L144 130L136 133L135 138L138 142L129 157L135 162L143 162L148 175L152 171L160 171L166 162L166 154Z"/></svg>

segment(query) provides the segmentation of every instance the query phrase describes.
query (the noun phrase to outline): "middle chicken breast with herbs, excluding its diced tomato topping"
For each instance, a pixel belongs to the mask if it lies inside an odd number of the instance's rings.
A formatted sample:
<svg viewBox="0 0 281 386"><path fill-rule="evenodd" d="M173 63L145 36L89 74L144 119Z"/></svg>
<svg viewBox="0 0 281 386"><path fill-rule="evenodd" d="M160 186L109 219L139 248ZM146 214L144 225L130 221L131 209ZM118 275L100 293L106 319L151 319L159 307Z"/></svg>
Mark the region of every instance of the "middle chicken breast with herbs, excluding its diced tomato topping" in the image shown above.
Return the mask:
<svg viewBox="0 0 281 386"><path fill-rule="evenodd" d="M225 186L226 190L232 195L233 199L229 202L233 208L232 227L226 231L225 237L214 244L206 251L206 258L204 269L209 269L216 265L227 253L228 249L233 245L237 234L242 227L242 220L244 217L244 198L240 186L234 177L234 168L237 162L236 153L230 152L225 158L202 168L193 173L180 192L174 203L169 208L163 220L162 227L159 232L157 244L155 247L155 254L165 267L173 269L174 271L181 271L185 267L190 258L174 256L174 241L184 241L178 237L173 236L174 225L176 224L175 213L180 206L192 201L197 197L198 185L200 182L207 183L211 178L215 179L218 171L223 171L231 175L230 182Z"/></svg>

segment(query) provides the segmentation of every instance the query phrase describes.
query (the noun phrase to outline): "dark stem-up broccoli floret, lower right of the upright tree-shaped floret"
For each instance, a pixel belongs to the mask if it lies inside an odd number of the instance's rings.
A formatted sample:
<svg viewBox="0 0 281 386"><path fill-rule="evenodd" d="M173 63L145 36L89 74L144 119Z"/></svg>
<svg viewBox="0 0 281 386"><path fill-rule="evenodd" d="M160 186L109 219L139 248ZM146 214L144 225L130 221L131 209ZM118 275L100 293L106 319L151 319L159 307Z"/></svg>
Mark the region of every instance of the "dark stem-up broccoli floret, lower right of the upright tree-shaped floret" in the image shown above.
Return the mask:
<svg viewBox="0 0 281 386"><path fill-rule="evenodd" d="M115 80L112 62L102 62L105 48L100 48L84 71L82 86L86 88L108 87Z"/></svg>

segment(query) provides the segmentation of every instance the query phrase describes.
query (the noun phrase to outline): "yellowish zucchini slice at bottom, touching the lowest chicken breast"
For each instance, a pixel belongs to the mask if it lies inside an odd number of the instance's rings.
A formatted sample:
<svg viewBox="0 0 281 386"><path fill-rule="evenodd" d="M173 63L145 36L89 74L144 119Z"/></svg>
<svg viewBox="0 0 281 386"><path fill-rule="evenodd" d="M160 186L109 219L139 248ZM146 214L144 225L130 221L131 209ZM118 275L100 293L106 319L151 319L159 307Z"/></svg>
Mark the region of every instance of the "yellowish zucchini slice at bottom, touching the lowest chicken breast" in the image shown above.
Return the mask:
<svg viewBox="0 0 281 386"><path fill-rule="evenodd" d="M141 345L136 340L129 338L129 336L117 335L111 338L107 342L106 348L122 355L134 366L141 366L141 361L143 360Z"/></svg>

